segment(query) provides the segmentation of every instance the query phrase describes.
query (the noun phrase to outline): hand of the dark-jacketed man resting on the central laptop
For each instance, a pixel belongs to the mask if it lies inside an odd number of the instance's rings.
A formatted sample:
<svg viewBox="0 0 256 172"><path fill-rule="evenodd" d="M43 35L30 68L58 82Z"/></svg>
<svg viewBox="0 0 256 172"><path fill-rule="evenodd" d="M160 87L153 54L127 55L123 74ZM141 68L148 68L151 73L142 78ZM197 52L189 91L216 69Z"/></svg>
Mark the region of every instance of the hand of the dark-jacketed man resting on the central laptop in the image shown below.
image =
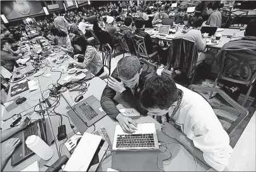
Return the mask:
<svg viewBox="0 0 256 172"><path fill-rule="evenodd" d="M122 114L118 114L116 117L119 125L122 127L124 132L134 133L137 129L137 124L130 117L124 116Z"/></svg>

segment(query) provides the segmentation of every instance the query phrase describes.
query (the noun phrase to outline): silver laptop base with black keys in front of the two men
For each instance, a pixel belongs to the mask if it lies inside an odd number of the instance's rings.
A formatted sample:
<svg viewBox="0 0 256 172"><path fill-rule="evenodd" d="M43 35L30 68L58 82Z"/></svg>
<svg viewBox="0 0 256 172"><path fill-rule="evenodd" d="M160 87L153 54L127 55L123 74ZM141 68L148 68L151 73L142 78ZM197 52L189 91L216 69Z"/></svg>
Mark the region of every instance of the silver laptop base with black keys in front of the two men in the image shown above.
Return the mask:
<svg viewBox="0 0 256 172"><path fill-rule="evenodd" d="M115 126L113 151L158 151L158 138L154 123L137 124L133 134L125 133L120 125Z"/></svg>

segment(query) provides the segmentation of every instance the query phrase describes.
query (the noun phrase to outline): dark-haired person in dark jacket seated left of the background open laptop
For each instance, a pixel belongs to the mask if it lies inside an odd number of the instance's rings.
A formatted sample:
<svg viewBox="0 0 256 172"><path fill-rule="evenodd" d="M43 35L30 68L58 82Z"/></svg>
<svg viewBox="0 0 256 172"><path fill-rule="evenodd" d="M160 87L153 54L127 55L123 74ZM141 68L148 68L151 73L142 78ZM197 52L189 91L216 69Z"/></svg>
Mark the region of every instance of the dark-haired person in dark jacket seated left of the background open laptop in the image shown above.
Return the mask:
<svg viewBox="0 0 256 172"><path fill-rule="evenodd" d="M138 36L144 37L144 42L145 42L147 52L149 54L153 53L156 49L158 49L159 45L152 40L151 36L148 33L144 31L144 26L145 26L144 19L137 18L134 24L135 24L136 30L134 31L134 33L132 33L132 35L138 35ZM153 48L154 46L155 48Z"/></svg>

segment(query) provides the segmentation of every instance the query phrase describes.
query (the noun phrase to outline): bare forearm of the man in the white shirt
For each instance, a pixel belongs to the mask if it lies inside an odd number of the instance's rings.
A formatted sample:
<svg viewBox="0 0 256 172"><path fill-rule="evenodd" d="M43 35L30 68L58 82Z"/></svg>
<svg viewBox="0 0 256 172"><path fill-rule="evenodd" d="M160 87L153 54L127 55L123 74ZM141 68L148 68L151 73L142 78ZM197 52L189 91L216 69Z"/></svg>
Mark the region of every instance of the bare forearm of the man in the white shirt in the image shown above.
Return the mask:
<svg viewBox="0 0 256 172"><path fill-rule="evenodd" d="M207 164L204 160L204 157L202 156L202 151L198 148L195 148L194 143L192 140L190 140L185 134L182 132L178 133L177 136L175 136L175 139L179 141L185 148L189 149L190 153L194 154L196 158L200 159L204 164ZM209 166L209 164L207 164ZM211 166L209 166L211 167Z"/></svg>

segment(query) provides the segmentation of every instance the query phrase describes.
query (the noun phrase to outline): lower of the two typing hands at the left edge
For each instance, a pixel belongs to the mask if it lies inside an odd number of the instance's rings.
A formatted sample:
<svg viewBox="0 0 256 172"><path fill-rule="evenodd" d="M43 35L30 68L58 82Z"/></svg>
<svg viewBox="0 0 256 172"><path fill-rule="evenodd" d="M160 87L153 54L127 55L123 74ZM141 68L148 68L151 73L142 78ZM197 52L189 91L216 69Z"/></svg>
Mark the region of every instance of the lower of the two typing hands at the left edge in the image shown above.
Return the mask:
<svg viewBox="0 0 256 172"><path fill-rule="evenodd" d="M1 159L8 159L11 154L13 154L13 151L15 151L16 146L20 144L20 139L18 138L11 138L6 142L4 145L4 148L1 148Z"/></svg>

